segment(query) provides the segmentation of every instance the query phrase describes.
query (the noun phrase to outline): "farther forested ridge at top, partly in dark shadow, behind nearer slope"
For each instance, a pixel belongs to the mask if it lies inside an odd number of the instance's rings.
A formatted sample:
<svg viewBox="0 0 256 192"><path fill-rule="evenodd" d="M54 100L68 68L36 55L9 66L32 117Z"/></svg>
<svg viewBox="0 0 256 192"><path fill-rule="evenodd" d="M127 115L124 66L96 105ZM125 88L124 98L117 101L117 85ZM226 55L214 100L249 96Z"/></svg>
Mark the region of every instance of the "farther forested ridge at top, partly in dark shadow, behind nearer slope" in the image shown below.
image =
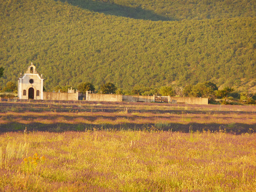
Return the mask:
<svg viewBox="0 0 256 192"><path fill-rule="evenodd" d="M255 0L62 0L87 10L150 20L256 16ZM161 17L162 16L162 17Z"/></svg>

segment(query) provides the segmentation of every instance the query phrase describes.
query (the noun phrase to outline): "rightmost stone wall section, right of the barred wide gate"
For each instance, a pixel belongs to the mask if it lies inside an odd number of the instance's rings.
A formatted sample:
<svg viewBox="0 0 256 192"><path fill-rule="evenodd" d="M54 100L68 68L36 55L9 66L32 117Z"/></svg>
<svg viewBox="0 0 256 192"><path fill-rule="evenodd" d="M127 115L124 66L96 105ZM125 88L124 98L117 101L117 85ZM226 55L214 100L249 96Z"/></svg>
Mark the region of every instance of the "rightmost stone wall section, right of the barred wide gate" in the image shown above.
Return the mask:
<svg viewBox="0 0 256 192"><path fill-rule="evenodd" d="M171 103L187 103L187 104L208 105L208 98L170 97L170 102Z"/></svg>

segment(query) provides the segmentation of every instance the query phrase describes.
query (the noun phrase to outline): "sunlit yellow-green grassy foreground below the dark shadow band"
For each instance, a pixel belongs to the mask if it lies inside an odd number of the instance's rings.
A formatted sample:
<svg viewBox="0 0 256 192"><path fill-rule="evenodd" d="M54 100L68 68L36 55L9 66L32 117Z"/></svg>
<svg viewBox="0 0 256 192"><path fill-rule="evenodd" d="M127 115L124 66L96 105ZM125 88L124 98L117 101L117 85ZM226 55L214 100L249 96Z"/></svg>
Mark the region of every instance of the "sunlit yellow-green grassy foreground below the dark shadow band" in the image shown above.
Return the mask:
<svg viewBox="0 0 256 192"><path fill-rule="evenodd" d="M255 191L256 134L0 135L0 191Z"/></svg>

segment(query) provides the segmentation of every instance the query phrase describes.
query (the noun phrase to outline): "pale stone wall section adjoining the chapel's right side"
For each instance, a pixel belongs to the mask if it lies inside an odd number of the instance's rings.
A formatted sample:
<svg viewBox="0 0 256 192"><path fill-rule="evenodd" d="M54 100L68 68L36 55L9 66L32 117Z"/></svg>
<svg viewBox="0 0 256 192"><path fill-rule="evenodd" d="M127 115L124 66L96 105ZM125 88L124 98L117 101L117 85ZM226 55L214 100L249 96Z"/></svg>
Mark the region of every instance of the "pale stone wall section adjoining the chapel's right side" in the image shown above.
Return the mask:
<svg viewBox="0 0 256 192"><path fill-rule="evenodd" d="M68 100L77 101L80 93L55 93L55 92L44 92L44 100Z"/></svg>

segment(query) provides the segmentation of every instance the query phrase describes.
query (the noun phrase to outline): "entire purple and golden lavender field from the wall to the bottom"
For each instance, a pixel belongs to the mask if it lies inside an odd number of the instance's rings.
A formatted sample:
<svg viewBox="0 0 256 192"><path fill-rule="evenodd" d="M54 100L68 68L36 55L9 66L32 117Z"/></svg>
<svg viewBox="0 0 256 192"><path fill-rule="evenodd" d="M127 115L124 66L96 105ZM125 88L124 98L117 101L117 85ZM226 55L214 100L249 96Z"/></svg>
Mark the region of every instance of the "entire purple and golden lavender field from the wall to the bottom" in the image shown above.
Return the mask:
<svg viewBox="0 0 256 192"><path fill-rule="evenodd" d="M255 113L0 102L0 191L256 191Z"/></svg>

